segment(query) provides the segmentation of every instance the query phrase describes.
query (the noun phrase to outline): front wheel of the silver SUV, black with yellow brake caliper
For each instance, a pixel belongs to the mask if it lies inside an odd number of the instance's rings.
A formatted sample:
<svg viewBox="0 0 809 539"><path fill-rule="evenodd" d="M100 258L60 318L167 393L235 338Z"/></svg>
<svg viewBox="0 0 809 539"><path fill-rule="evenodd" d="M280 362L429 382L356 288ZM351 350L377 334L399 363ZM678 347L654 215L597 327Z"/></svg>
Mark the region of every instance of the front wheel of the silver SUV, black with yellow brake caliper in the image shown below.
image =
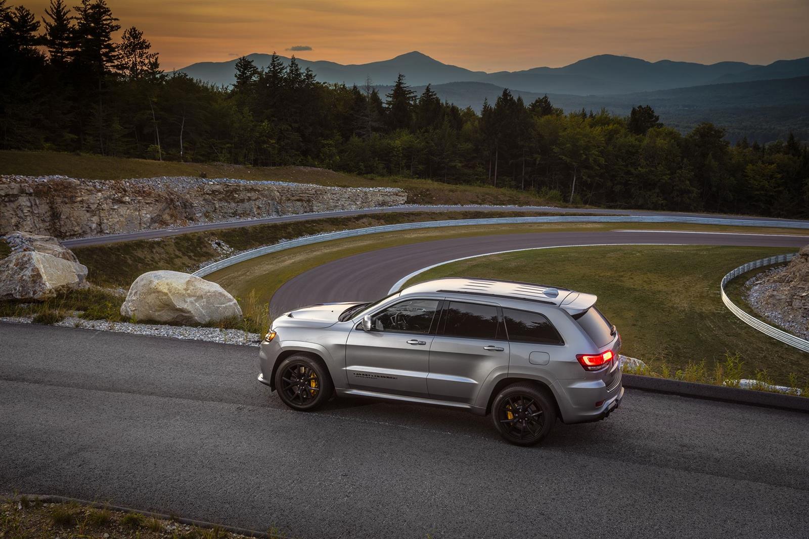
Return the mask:
<svg viewBox="0 0 809 539"><path fill-rule="evenodd" d="M314 411L334 393L332 377L321 360L294 355L275 370L275 388L281 400L293 410Z"/></svg>

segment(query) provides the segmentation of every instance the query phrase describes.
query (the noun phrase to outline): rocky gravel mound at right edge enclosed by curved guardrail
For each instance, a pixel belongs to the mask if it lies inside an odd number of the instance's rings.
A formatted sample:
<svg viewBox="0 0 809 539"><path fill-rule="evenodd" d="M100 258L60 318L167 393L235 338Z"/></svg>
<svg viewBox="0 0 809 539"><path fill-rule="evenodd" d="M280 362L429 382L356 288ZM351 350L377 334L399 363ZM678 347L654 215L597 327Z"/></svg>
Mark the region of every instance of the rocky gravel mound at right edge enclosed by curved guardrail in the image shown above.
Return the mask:
<svg viewBox="0 0 809 539"><path fill-rule="evenodd" d="M765 318L809 339L809 246L801 247L785 267L757 276L748 302Z"/></svg>

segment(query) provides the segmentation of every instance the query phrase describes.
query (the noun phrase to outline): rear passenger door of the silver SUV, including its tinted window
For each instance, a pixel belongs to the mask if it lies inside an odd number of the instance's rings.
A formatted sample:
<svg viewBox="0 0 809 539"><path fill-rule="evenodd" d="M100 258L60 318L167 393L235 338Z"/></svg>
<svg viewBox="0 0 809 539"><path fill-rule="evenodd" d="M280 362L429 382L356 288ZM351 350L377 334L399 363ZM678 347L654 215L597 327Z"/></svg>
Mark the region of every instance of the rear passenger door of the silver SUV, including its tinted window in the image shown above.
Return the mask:
<svg viewBox="0 0 809 539"><path fill-rule="evenodd" d="M472 404L489 373L508 359L499 305L446 299L430 347L430 398Z"/></svg>

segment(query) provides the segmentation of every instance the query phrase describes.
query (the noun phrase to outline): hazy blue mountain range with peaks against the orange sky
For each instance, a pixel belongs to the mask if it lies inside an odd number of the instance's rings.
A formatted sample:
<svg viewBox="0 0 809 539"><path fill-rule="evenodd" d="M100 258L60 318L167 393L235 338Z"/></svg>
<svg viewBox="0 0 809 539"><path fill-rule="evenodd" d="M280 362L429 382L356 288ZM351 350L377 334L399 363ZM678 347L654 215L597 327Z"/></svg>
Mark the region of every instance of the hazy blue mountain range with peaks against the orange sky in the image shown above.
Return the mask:
<svg viewBox="0 0 809 539"><path fill-rule="evenodd" d="M248 55L257 66L269 64L269 54ZM290 58L280 57L285 64ZM535 67L521 71L472 71L444 64L426 54L413 51L390 60L367 64L343 65L333 61L308 61L296 58L301 69L310 68L321 82L345 82L361 85L371 78L375 85L390 85L398 74L404 74L413 86L450 82L485 82L516 91L539 94L612 95L642 91L668 90L685 86L702 86L726 82L750 82L809 75L809 57L780 60L769 65L751 65L738 61L717 64L661 60L650 62L639 58L600 54L563 67ZM193 78L214 84L234 82L236 59L221 62L198 62L178 69Z"/></svg>

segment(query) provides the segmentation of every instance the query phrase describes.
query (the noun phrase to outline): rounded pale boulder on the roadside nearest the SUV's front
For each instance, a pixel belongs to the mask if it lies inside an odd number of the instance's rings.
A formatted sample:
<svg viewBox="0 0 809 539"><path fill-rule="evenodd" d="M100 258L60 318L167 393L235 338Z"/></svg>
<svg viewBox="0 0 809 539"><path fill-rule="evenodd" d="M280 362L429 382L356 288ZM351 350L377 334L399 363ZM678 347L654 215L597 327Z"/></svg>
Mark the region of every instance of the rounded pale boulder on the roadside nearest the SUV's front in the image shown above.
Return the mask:
<svg viewBox="0 0 809 539"><path fill-rule="evenodd" d="M239 304L224 288L188 273L147 272L129 287L121 314L138 322L207 324L241 318Z"/></svg>

